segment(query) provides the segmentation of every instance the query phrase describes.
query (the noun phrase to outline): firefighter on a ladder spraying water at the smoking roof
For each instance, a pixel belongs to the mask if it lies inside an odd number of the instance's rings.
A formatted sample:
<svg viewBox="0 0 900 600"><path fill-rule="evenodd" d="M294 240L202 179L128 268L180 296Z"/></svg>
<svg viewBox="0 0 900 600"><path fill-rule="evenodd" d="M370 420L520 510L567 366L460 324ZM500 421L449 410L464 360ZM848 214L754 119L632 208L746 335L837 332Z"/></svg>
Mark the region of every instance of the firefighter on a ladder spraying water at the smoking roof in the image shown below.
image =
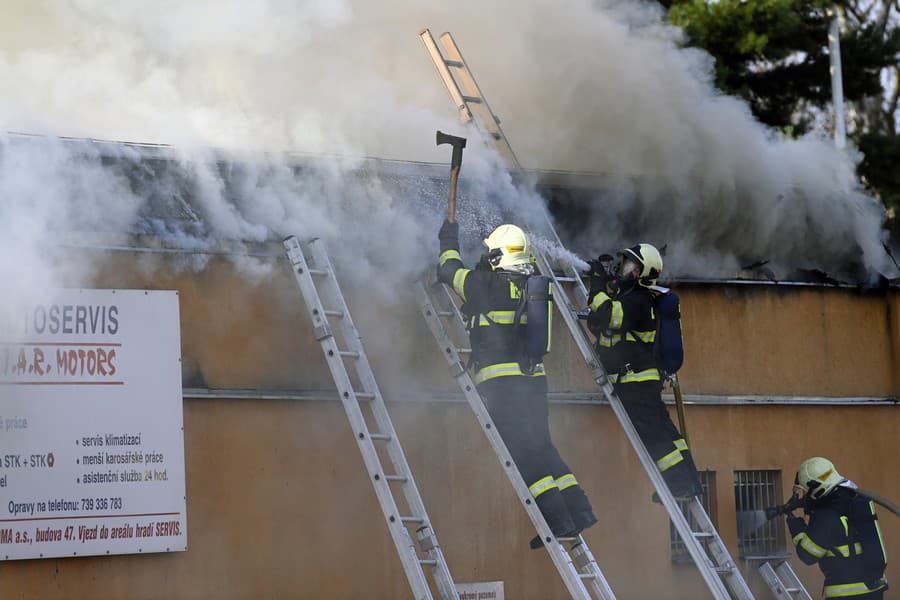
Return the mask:
<svg viewBox="0 0 900 600"><path fill-rule="evenodd" d="M662 257L650 244L620 253L616 272L604 257L591 261L588 329L597 337L597 356L615 386L634 428L679 498L701 493L700 478L687 442L672 423L662 401L662 375L654 344L656 278ZM612 261L612 257L607 257Z"/></svg>

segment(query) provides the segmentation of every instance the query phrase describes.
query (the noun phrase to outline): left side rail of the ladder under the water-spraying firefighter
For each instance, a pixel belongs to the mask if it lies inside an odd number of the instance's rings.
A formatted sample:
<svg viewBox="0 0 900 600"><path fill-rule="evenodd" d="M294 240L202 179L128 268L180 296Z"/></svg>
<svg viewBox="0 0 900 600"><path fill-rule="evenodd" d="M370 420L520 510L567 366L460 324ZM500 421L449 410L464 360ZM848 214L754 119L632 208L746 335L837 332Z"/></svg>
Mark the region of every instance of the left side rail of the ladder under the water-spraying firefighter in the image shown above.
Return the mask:
<svg viewBox="0 0 900 600"><path fill-rule="evenodd" d="M566 293L565 288L556 278L556 275L552 271L552 269L550 269L546 257L542 253L537 253L536 259L538 262L538 268L540 269L541 273L549 276L551 278L551 281L553 282L554 297L564 297ZM571 308L571 305L568 305L568 308ZM694 532L691 530L687 519L684 516L684 513L681 512L681 509L675 502L675 498L669 491L669 486L667 486L665 481L663 480L662 474L659 472L655 461L650 457L650 453L647 452L647 449L641 441L640 436L638 436L637 431L635 430L634 425L631 422L631 418L625 411L625 407L622 406L622 402L619 400L618 396L616 396L615 391L613 390L613 385L609 381L606 370L597 359L597 356L594 353L593 345L588 340L587 333L581 326L581 323L579 322L577 316L572 310L563 310L561 307L559 309L559 313L562 315L563 320L565 321L566 326L569 329L569 332L572 334L572 339L578 346L582 358L590 368L591 375L594 381L601 388L604 396L612 407L613 412L615 412L619 423L625 431L625 435L628 438L628 441L631 442L631 446L637 453L638 458L640 459L641 464L644 467L644 471L647 472L647 475L653 483L653 487L656 488L656 491L659 494L660 499L662 500L666 512L669 513L669 517L672 519L675 528L678 530L678 533L684 540L685 547L688 549L691 558L693 558L694 564L697 565L697 568L700 571L700 574L703 576L704 581L706 581L707 587L716 598L729 600L731 598L731 595L725 588L722 580L719 578L716 569L710 563L709 557L703 552L703 548L700 546L700 543L697 541ZM734 565L733 563L731 563L730 568L733 570L737 569L736 565ZM744 584L743 588L744 589L736 590L736 592L738 592L738 597L748 600L752 599L753 596L750 593L750 590L746 588L746 583Z"/></svg>

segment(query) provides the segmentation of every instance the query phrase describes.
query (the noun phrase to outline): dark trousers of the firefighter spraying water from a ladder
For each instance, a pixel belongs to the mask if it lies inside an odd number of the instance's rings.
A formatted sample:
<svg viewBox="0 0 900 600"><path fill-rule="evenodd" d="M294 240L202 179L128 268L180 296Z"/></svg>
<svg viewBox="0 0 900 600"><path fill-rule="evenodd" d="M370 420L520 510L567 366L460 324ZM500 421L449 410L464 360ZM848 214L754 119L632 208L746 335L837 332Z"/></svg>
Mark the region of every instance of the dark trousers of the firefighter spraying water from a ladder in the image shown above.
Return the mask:
<svg viewBox="0 0 900 600"><path fill-rule="evenodd" d="M662 383L658 380L617 383L615 391L672 495L700 494L703 488L697 467L687 441L672 423L662 401Z"/></svg>

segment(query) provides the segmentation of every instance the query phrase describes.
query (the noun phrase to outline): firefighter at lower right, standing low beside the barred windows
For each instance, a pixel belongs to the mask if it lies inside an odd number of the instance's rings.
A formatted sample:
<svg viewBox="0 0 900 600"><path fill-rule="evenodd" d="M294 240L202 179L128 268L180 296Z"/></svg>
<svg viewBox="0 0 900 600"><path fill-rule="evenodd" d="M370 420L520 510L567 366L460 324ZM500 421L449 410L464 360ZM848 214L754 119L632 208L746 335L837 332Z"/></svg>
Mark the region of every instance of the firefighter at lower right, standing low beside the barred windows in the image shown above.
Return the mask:
<svg viewBox="0 0 900 600"><path fill-rule="evenodd" d="M803 494L809 522L791 515L788 529L800 560L818 563L825 575L823 597L883 598L887 555L875 503L818 456L800 465L794 489Z"/></svg>

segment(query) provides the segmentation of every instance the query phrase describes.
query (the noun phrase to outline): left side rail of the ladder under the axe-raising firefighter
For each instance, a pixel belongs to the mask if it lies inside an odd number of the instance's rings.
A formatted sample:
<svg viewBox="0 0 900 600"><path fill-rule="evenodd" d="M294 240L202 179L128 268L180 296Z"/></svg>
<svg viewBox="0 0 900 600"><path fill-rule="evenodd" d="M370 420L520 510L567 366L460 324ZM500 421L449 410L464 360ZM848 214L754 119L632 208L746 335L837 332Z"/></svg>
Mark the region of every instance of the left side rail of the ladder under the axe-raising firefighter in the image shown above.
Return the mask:
<svg viewBox="0 0 900 600"><path fill-rule="evenodd" d="M516 467L516 464L513 461L512 455L510 455L506 444L500 437L500 434L497 431L496 426L494 425L494 421L488 413L487 408L485 407L484 402L481 399L481 395L478 393L478 390L475 387L475 383L472 381L471 376L465 369L464 363L460 358L459 353L457 352L456 346L453 344L450 335L444 328L444 324L441 322L440 317L438 316L440 311L448 309L449 307L435 305L433 299L426 289L425 284L421 282L417 284L416 292L422 314L425 316L425 321L428 324L428 328L431 330L431 333L434 335L435 340L437 340L442 350L441 353L444 355L444 358L447 360L447 363L451 368L451 374L457 380L457 383L463 390L466 401L469 403L470 408L475 413L475 417L478 419L478 423L481 426L482 431L487 437L488 442L494 450L494 453L497 455L497 458L500 460L500 464L503 466L507 478L510 480L510 483L512 483L513 489L515 490L516 495L519 497L519 501L522 503L526 513L531 519L532 524L537 530L538 535L540 535L542 539L548 542L545 544L545 547L550 554L550 558L553 561L556 570L562 576L563 583L565 584L566 589L569 591L569 594L573 598L591 598L571 558L568 557L566 553L564 553L564 548L560 543L554 543L555 536L550 531L550 527L547 525L547 521L544 519L543 515L538 509L537 504L535 503L534 498L532 497L531 492L528 489L528 485L525 483L525 480L522 479L522 475L519 473L518 467ZM607 596L602 598L603 600L613 600L614 596Z"/></svg>

